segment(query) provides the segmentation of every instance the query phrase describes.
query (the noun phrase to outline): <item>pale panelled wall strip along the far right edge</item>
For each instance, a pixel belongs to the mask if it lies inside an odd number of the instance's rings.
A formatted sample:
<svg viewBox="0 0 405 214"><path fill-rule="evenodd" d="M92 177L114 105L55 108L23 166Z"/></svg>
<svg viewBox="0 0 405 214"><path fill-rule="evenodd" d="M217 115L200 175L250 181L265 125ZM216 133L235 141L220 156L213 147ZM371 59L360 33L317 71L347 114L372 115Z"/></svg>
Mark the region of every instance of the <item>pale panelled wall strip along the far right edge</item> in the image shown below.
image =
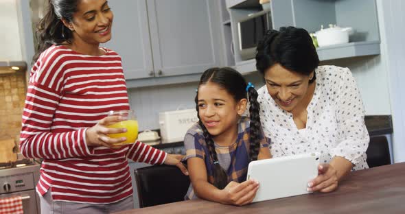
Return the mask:
<svg viewBox="0 0 405 214"><path fill-rule="evenodd" d="M405 1L377 0L382 36L382 61L387 72L387 82L393 116L393 156L395 163L405 161Z"/></svg>

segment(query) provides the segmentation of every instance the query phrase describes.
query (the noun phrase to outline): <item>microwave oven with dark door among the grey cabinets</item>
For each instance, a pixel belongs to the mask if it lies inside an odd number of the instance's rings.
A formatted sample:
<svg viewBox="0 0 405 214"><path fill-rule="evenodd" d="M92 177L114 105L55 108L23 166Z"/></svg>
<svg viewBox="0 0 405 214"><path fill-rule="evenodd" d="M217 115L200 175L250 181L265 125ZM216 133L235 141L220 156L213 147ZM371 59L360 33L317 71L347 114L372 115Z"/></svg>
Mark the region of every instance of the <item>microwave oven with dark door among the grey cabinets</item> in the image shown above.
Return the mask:
<svg viewBox="0 0 405 214"><path fill-rule="evenodd" d="M242 60L255 58L257 43L272 29L270 11L249 14L238 21L239 53Z"/></svg>

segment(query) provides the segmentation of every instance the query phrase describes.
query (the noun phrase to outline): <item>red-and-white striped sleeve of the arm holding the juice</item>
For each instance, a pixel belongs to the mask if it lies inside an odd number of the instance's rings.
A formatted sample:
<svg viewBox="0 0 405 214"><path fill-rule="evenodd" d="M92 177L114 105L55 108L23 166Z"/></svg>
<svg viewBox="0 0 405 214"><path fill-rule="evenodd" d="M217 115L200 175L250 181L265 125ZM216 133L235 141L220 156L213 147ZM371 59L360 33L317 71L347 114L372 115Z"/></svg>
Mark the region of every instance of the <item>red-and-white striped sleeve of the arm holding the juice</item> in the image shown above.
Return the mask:
<svg viewBox="0 0 405 214"><path fill-rule="evenodd" d="M20 135L20 150L25 157L60 159L93 154L86 145L86 128L51 132L59 98L52 88L37 82L28 86Z"/></svg>

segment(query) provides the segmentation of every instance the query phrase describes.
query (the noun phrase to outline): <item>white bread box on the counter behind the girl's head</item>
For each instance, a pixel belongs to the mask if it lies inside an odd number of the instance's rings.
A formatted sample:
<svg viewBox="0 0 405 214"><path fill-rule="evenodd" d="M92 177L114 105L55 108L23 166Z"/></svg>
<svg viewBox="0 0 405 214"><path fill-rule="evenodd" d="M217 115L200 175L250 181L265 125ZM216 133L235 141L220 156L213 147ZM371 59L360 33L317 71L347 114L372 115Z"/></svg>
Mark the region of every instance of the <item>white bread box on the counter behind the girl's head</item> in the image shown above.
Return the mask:
<svg viewBox="0 0 405 214"><path fill-rule="evenodd" d="M162 143L183 141L187 130L197 121L195 108L159 112Z"/></svg>

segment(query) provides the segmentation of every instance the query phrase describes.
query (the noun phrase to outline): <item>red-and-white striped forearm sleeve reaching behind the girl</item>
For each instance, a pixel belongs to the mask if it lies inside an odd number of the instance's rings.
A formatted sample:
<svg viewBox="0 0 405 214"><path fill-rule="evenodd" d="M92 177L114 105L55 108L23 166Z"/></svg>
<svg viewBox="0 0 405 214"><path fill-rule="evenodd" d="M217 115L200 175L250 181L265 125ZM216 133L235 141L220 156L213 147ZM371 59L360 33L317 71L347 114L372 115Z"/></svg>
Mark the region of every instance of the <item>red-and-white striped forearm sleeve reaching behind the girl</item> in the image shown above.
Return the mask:
<svg viewBox="0 0 405 214"><path fill-rule="evenodd" d="M141 141L137 141L127 152L127 158L135 162L149 163L152 165L165 163L167 154L162 150L155 149Z"/></svg>

